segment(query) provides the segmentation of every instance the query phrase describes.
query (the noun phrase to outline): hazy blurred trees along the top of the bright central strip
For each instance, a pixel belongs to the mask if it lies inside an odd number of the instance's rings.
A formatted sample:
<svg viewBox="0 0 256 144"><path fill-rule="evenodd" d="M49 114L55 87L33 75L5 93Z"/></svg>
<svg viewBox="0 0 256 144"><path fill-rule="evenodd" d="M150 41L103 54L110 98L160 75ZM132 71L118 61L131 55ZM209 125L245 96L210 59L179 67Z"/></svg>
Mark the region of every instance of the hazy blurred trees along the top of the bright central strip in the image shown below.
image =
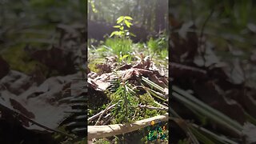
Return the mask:
<svg viewBox="0 0 256 144"><path fill-rule="evenodd" d="M158 32L168 26L166 0L90 0L89 3L89 21L114 23L120 15L129 15L135 25L146 30Z"/></svg>

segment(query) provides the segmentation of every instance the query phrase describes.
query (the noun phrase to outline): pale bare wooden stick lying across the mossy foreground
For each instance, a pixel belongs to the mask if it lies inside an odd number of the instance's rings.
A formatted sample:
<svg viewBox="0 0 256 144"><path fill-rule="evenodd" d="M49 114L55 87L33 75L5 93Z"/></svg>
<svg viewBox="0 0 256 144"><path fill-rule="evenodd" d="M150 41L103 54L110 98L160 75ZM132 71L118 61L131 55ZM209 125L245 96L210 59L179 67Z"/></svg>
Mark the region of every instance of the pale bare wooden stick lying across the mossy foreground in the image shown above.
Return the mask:
<svg viewBox="0 0 256 144"><path fill-rule="evenodd" d="M106 138L114 135L130 133L132 131L142 129L146 126L150 126L151 121L154 121L155 123L166 122L168 121L168 113L126 124L88 126L88 139Z"/></svg>

